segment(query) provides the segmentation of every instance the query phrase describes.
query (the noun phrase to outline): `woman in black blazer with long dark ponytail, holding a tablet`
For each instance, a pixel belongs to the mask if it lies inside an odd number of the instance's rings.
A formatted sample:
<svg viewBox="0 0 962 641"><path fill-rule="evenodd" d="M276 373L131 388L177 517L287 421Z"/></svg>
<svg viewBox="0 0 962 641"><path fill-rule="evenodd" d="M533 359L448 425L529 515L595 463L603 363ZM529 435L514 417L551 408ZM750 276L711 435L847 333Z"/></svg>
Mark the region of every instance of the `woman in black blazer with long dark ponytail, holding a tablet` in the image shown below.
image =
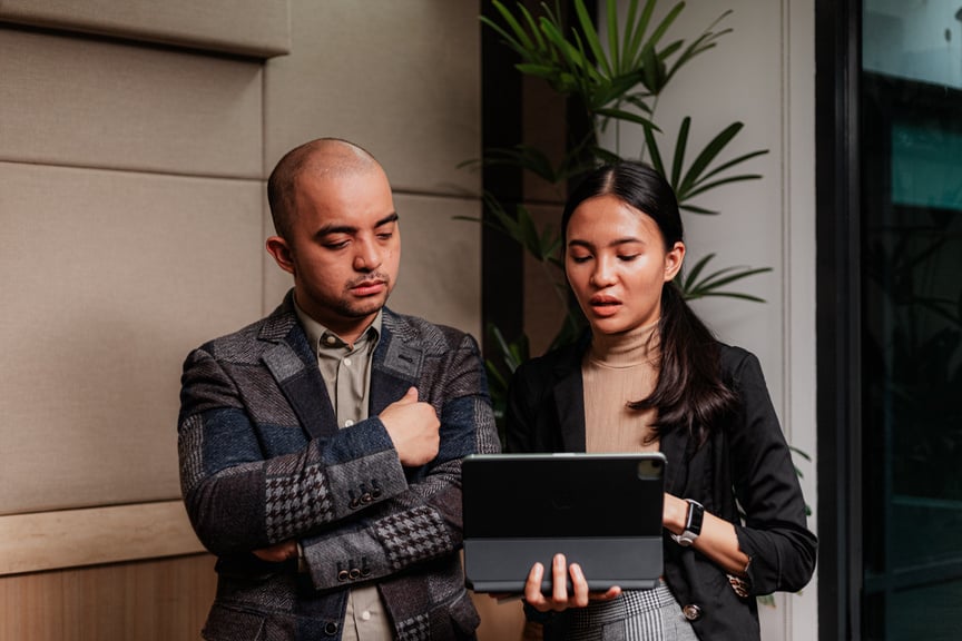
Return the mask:
<svg viewBox="0 0 962 641"><path fill-rule="evenodd" d="M577 564L556 556L531 569L529 621L546 639L757 640L756 595L802 589L816 552L758 361L718 343L673 283L681 218L657 171L600 167L561 225L590 333L518 369L507 448L665 454L665 570L655 590L589 594Z"/></svg>

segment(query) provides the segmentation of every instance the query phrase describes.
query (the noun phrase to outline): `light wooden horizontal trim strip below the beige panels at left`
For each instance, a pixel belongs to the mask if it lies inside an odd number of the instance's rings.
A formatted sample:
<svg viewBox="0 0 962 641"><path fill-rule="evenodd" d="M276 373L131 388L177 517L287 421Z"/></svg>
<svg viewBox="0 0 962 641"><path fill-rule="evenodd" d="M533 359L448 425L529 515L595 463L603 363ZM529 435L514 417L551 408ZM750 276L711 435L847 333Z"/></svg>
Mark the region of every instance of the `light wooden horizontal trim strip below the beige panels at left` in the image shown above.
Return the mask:
<svg viewBox="0 0 962 641"><path fill-rule="evenodd" d="M203 551L180 501L0 516L0 575Z"/></svg>

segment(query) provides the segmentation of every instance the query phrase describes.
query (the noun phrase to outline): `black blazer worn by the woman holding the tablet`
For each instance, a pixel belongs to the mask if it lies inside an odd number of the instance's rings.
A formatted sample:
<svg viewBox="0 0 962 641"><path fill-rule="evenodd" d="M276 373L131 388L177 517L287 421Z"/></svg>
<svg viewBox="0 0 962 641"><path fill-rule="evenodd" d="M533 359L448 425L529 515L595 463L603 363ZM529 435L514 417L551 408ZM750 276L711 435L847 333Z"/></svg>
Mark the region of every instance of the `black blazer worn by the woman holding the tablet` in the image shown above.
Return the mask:
<svg viewBox="0 0 962 641"><path fill-rule="evenodd" d="M588 339L524 363L508 398L507 451L583 452L581 358ZM665 580L690 614L699 639L758 640L756 595L798 591L815 569L817 540L806 526L805 502L758 359L719 344L723 378L740 400L738 411L713 425L697 447L685 430L661 437L667 491L694 499L735 524L750 558L748 598L725 571L665 533ZM744 510L739 516L737 504Z"/></svg>

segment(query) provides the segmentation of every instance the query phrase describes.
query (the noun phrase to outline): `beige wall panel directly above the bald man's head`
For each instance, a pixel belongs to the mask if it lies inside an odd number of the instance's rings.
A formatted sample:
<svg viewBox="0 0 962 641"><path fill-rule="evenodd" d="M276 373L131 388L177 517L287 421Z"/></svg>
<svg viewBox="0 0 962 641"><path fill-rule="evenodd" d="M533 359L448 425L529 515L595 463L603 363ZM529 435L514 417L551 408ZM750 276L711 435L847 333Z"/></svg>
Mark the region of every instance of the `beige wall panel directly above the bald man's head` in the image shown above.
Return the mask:
<svg viewBox="0 0 962 641"><path fill-rule="evenodd" d="M292 0L292 55L267 62L266 164L308 139L361 144L395 189L477 193L477 1Z"/></svg>

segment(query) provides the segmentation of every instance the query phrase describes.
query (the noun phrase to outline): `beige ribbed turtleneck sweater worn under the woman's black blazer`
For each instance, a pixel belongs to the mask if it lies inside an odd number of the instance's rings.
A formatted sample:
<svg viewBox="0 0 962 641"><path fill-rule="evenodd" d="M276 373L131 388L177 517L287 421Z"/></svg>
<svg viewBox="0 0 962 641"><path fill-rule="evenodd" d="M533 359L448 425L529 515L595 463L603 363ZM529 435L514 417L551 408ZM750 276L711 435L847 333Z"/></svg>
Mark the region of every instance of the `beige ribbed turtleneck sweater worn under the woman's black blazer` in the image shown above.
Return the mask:
<svg viewBox="0 0 962 641"><path fill-rule="evenodd" d="M656 410L631 410L658 381L655 322L627 334L595 335L581 362L588 452L657 452L650 438Z"/></svg>

